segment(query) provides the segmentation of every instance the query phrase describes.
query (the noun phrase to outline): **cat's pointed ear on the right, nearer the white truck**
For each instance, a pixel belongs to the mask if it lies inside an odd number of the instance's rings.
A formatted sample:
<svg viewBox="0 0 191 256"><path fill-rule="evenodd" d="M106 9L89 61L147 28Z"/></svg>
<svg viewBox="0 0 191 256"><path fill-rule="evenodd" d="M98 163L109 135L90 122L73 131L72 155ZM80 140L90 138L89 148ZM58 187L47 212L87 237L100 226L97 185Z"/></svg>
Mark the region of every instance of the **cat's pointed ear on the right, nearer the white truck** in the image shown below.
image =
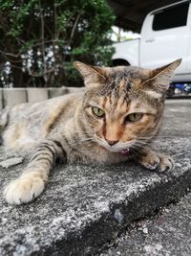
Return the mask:
<svg viewBox="0 0 191 256"><path fill-rule="evenodd" d="M142 87L146 91L152 91L162 95L168 90L170 80L175 69L180 65L181 58L173 61L170 64L154 69L150 72L150 78L142 83Z"/></svg>

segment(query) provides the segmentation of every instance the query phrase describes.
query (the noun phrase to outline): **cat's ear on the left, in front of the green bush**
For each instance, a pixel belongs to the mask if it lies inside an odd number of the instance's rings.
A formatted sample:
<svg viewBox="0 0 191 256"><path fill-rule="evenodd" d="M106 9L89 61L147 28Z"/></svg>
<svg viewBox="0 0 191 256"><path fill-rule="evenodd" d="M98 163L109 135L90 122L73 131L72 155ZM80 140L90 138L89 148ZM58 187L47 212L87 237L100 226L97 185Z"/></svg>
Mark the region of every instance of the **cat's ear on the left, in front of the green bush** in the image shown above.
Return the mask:
<svg viewBox="0 0 191 256"><path fill-rule="evenodd" d="M106 81L104 69L101 67L87 65L80 61L74 61L74 67L83 76L87 87L96 87Z"/></svg>

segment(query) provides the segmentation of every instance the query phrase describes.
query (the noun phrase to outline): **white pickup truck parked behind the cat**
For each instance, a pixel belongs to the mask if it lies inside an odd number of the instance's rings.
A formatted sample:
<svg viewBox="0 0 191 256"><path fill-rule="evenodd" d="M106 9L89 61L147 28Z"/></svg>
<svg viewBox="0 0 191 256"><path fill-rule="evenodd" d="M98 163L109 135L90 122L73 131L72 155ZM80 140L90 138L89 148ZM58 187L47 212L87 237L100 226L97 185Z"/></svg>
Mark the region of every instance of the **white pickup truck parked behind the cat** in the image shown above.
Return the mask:
<svg viewBox="0 0 191 256"><path fill-rule="evenodd" d="M147 14L140 38L115 44L114 65L155 68L182 58L173 81L191 81L191 2Z"/></svg>

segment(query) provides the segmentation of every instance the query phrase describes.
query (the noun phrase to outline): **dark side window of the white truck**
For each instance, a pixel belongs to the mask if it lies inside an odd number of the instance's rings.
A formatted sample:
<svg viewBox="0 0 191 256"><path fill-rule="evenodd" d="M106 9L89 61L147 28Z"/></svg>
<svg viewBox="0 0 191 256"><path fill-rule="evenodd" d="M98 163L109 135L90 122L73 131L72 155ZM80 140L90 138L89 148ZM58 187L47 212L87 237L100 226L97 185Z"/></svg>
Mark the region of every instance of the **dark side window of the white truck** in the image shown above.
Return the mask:
<svg viewBox="0 0 191 256"><path fill-rule="evenodd" d="M189 3L180 4L154 14L153 30L160 31L186 26Z"/></svg>

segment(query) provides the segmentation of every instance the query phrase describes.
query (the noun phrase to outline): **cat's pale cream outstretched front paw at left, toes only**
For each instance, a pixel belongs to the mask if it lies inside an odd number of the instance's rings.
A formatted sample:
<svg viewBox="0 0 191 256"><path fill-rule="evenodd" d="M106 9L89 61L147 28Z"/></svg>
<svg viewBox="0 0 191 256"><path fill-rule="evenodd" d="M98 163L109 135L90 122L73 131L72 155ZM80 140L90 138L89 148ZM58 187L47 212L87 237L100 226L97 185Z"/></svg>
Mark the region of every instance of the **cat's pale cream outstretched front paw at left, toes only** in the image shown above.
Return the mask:
<svg viewBox="0 0 191 256"><path fill-rule="evenodd" d="M35 175L23 175L13 180L4 191L8 203L22 204L37 198L44 190L44 180Z"/></svg>

